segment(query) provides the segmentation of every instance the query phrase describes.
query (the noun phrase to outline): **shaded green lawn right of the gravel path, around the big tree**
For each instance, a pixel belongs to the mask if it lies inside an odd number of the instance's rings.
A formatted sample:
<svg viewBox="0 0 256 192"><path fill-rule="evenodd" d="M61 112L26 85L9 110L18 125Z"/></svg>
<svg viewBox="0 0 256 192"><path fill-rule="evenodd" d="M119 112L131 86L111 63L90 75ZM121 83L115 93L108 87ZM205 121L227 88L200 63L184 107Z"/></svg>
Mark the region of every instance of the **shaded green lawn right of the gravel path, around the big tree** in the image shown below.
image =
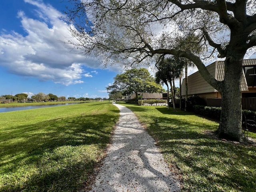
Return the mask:
<svg viewBox="0 0 256 192"><path fill-rule="evenodd" d="M192 113L161 106L123 105L158 141L164 158L182 178L182 191L256 191L255 146L210 138L205 130L217 130L218 123ZM249 132L249 136L256 138L255 133Z"/></svg>

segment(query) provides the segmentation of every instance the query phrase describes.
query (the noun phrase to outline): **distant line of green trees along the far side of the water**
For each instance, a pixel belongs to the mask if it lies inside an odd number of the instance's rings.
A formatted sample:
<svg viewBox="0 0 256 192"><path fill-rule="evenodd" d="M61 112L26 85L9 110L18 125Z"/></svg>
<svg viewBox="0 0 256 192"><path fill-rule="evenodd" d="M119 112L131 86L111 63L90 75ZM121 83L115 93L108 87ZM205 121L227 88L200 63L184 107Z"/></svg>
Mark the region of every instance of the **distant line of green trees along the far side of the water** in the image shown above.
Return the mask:
<svg viewBox="0 0 256 192"><path fill-rule="evenodd" d="M2 95L0 98L7 99L8 102L52 102L52 101L90 101L90 100L107 100L107 98L75 98L75 97L68 97L54 95L52 93L44 94L42 92L39 92L38 94L35 94L31 96L31 98L28 98L28 94L25 93L19 93L16 95Z"/></svg>

